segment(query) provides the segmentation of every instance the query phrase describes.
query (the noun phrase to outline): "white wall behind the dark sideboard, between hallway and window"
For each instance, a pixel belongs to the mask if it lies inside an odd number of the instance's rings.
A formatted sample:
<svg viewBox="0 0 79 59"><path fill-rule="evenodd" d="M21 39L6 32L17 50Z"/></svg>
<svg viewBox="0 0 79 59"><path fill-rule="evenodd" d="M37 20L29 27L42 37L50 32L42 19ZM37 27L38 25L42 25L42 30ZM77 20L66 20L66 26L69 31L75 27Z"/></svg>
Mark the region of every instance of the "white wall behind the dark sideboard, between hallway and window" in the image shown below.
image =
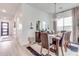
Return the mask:
<svg viewBox="0 0 79 59"><path fill-rule="evenodd" d="M40 20L41 22L45 21L46 24L49 24L50 29L53 28L53 25L50 26L52 20L51 15L43 11L40 11L34 7L31 7L27 4L21 5L20 9L17 11L15 15L15 19L17 20L17 35L19 37L21 45L25 45L28 43L29 36L35 37L37 20ZM33 23L34 29L30 29L31 22ZM22 25L22 29L18 29L19 24Z"/></svg>

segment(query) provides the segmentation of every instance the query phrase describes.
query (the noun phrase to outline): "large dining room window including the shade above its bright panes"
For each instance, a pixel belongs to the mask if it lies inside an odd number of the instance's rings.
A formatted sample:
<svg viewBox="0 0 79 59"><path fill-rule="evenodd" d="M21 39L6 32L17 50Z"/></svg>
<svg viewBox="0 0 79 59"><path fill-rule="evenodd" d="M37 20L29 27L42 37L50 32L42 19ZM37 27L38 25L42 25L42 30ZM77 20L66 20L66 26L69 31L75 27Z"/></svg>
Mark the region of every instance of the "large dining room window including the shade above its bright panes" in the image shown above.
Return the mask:
<svg viewBox="0 0 79 59"><path fill-rule="evenodd" d="M57 14L57 31L72 31L72 10Z"/></svg>

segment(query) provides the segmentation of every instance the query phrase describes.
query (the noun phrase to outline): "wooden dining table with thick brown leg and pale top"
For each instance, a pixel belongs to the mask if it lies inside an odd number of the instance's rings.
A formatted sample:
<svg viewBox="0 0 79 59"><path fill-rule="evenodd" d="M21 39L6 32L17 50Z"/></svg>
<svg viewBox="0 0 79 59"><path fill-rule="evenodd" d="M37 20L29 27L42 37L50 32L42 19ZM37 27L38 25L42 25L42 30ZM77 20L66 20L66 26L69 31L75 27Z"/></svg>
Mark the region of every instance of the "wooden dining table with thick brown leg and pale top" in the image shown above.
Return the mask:
<svg viewBox="0 0 79 59"><path fill-rule="evenodd" d="M52 40L55 38L56 41L56 55L59 55L59 41L60 37L57 34L48 34L48 41L52 44Z"/></svg>

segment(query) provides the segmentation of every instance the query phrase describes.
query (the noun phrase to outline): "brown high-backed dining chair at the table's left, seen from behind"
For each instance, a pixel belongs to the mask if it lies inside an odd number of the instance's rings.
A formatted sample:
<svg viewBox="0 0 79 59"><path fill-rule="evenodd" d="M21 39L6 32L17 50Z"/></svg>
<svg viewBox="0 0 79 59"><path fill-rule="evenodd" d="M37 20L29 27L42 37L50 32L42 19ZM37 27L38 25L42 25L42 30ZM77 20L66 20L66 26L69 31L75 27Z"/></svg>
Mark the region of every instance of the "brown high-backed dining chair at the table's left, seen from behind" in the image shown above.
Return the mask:
<svg viewBox="0 0 79 59"><path fill-rule="evenodd" d="M47 49L48 50L48 53L47 55L49 55L49 51L50 51L50 48L52 47L48 41L48 34L46 32L41 32L41 51L40 53L42 54L42 50L43 48Z"/></svg>

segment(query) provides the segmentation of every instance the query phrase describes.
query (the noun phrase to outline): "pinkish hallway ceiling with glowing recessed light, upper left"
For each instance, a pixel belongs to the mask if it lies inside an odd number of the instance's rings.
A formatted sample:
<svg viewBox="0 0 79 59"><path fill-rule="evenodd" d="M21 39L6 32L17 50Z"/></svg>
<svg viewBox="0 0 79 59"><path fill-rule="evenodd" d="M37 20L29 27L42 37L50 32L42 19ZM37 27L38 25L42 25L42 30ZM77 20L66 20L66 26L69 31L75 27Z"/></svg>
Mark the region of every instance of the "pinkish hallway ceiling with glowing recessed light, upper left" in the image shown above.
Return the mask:
<svg viewBox="0 0 79 59"><path fill-rule="evenodd" d="M16 3L0 3L0 18L14 17L19 5Z"/></svg>

